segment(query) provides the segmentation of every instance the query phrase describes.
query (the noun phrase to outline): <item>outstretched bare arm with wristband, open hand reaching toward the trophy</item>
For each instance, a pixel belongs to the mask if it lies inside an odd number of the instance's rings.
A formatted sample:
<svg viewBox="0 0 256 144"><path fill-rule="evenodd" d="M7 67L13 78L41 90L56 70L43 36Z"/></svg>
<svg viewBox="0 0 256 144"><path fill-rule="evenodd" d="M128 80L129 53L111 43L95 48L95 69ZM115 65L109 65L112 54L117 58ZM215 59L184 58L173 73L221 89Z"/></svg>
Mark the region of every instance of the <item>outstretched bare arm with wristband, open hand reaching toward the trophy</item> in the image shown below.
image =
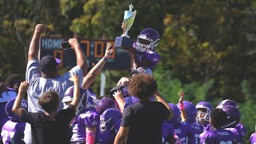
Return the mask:
<svg viewBox="0 0 256 144"><path fill-rule="evenodd" d="M104 57L98 61L98 63L89 71L88 74L86 74L86 77L82 80L82 88L87 89L92 82L94 82L94 79L100 74L102 71L103 66L106 63L106 59L110 58L110 55L114 52L113 49L111 49L111 44L108 43L106 46L106 51Z"/></svg>

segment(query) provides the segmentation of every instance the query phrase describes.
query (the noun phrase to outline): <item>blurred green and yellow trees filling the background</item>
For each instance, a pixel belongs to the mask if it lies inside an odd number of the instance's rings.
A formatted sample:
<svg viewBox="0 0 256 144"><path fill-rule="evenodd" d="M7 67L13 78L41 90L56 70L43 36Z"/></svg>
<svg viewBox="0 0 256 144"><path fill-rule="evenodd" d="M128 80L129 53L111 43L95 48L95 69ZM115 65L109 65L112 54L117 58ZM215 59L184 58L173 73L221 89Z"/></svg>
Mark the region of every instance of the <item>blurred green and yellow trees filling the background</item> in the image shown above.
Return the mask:
<svg viewBox="0 0 256 144"><path fill-rule="evenodd" d="M48 36L114 39L122 34L123 13L130 3L138 11L131 38L135 41L147 27L160 34L157 51L162 60L154 77L165 98L176 103L182 90L194 104L209 101L216 106L233 99L242 110L248 140L256 124L256 2L250 0L0 1L0 73L25 76L37 23L48 26ZM106 72L107 90L128 74Z"/></svg>

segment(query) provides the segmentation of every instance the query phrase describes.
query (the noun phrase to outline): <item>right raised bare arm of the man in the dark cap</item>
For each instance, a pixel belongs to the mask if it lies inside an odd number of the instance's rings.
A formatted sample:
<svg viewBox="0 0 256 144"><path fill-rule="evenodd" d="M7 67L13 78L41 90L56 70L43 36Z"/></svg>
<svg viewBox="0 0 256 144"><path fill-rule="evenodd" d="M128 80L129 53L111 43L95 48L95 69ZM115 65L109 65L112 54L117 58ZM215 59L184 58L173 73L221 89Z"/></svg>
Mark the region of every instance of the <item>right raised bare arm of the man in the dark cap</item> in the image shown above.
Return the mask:
<svg viewBox="0 0 256 144"><path fill-rule="evenodd" d="M78 39L70 38L69 43L70 43L70 46L72 47L72 49L74 49L74 53L77 57L77 66L81 67L82 74L86 74L86 70L87 70L86 56L82 52L82 48L78 43Z"/></svg>

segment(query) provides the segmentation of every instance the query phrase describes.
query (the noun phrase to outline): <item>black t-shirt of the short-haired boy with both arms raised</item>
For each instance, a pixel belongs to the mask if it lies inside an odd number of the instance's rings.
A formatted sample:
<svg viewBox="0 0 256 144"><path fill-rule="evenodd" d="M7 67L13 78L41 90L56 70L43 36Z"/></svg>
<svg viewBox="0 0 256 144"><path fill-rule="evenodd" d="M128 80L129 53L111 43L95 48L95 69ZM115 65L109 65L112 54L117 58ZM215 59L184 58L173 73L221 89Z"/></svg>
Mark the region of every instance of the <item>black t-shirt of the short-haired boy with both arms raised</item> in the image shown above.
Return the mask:
<svg viewBox="0 0 256 144"><path fill-rule="evenodd" d="M70 143L69 123L75 116L75 108L70 105L66 110L59 110L55 118L42 111L30 113L22 110L22 119L30 123L32 137L37 144Z"/></svg>

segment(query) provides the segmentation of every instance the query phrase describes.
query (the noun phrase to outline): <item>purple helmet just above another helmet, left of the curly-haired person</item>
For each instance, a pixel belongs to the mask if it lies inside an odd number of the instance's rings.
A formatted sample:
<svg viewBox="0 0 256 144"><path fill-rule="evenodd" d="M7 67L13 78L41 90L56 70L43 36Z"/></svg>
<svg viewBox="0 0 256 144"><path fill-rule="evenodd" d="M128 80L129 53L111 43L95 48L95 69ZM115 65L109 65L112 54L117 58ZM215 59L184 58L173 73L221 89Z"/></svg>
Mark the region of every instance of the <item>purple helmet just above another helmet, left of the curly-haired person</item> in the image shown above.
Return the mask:
<svg viewBox="0 0 256 144"><path fill-rule="evenodd" d="M105 110L110 108L117 109L117 106L113 99L105 97L98 101L96 110L98 111L98 114L102 114Z"/></svg>

